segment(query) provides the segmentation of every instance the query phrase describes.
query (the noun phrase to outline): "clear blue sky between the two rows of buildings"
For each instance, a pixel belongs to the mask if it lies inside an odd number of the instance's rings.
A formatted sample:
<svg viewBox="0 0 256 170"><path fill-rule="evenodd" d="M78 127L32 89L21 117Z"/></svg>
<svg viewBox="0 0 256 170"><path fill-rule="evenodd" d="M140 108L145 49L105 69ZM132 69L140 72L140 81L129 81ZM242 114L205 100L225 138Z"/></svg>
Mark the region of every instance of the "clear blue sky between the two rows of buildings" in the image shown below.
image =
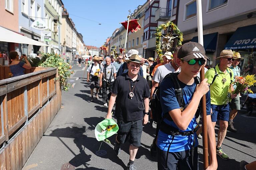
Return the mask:
<svg viewBox="0 0 256 170"><path fill-rule="evenodd" d="M62 0L75 27L83 35L86 45L100 47L112 36L120 22L127 20L128 10L133 12L146 0ZM75 15L75 16L73 16ZM97 22L88 21L79 17Z"/></svg>

